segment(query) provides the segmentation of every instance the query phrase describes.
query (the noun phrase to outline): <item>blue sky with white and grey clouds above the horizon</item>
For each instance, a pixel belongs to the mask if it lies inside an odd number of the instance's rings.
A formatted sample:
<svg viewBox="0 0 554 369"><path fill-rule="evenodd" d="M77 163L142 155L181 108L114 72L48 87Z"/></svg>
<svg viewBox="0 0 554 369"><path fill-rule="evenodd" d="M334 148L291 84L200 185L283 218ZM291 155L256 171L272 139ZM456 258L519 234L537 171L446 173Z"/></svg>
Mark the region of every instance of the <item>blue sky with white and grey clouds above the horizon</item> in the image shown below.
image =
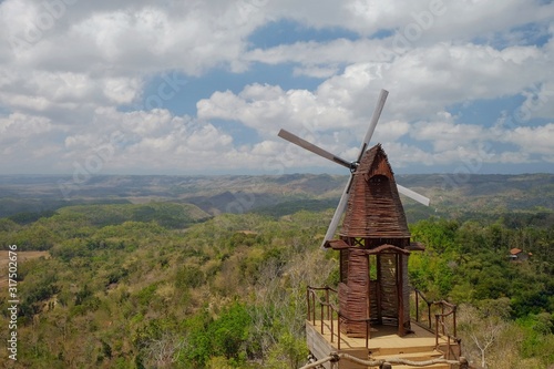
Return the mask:
<svg viewBox="0 0 554 369"><path fill-rule="evenodd" d="M544 0L0 0L0 174L554 172Z"/></svg>

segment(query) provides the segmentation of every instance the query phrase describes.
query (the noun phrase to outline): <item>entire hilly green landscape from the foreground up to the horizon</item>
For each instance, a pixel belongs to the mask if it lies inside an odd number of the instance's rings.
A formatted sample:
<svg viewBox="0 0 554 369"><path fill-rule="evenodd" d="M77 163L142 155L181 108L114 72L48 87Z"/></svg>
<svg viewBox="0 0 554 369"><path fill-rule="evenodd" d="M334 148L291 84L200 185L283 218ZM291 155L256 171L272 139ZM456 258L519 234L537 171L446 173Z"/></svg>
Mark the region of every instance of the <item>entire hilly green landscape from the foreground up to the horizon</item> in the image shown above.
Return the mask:
<svg viewBox="0 0 554 369"><path fill-rule="evenodd" d="M347 177L70 180L0 177L0 326L13 319L11 284L19 367L306 362L306 287L338 285L338 254L320 244ZM432 198L404 201L425 245L408 273L430 300L458 305L463 355L490 369L551 368L554 175L397 180ZM6 278L14 257L17 284Z"/></svg>

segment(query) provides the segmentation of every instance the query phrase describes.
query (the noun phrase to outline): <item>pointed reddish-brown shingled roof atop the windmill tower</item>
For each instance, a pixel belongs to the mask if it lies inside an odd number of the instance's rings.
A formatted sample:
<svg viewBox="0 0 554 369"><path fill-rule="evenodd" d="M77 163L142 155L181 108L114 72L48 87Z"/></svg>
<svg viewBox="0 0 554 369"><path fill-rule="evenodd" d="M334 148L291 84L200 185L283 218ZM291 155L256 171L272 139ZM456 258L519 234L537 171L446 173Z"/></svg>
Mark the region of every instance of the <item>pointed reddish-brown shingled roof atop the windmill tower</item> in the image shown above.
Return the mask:
<svg viewBox="0 0 554 369"><path fill-rule="evenodd" d="M394 175L380 144L366 151L353 173L339 234L362 238L410 237Z"/></svg>

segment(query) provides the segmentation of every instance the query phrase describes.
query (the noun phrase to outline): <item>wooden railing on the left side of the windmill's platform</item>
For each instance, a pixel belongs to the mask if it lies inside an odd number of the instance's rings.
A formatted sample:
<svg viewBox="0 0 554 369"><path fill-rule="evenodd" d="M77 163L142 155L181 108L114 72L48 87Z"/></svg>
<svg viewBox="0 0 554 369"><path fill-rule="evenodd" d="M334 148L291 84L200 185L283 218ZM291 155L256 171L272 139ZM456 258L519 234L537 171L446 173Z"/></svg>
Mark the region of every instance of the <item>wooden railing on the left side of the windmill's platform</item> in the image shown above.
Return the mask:
<svg viewBox="0 0 554 369"><path fill-rule="evenodd" d="M325 291L325 294L320 293L318 296L318 291ZM331 336L331 344L335 342L335 338L337 338L337 349L340 350L340 321L363 321L366 322L366 348L369 349L369 320L370 319L351 319L340 312L340 310L330 301L329 293L334 293L338 295L338 291L331 287L310 287L308 286L306 298L308 301L308 320L311 321L314 327L316 327L316 315L319 309L319 318L320 318L320 332L325 334L325 327L329 329ZM321 298L322 295L322 298ZM325 319L329 321L329 325L325 324ZM337 319L337 329L335 329L335 318Z"/></svg>

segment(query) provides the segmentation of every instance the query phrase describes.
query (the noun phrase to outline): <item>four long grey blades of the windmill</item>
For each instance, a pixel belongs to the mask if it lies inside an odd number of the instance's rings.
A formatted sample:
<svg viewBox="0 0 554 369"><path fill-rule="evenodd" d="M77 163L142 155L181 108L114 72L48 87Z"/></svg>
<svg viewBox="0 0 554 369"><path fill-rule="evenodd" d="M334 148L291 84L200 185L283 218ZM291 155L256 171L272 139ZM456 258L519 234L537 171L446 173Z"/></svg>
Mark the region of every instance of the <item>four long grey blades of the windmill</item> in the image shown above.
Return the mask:
<svg viewBox="0 0 554 369"><path fill-rule="evenodd" d="M349 195L350 195L350 188L351 188L351 185L352 185L352 178L356 174L356 171L358 170L358 166L360 164L360 161L362 160L362 156L363 154L366 153L366 150L368 148L368 145L369 145L369 142L371 140L371 136L373 135L373 132L376 130L376 126L377 126L377 123L379 121L379 117L381 116L381 112L382 112L382 109L384 106L384 102L387 101L387 96L388 96L389 92L387 90L381 90L380 94L379 94L379 100L377 101L377 105L376 105L376 109L373 111L373 114L371 116L371 121L370 121L370 124L369 124L369 129L368 129L368 132L366 133L366 136L363 137L363 141L361 142L361 147L360 147L360 152L358 154L358 158L353 162L348 162L319 146L316 146L314 145L312 143L304 140L304 139L300 139L298 137L297 135L286 131L286 130L280 130L278 135L279 137L281 139L285 139L287 141L289 141L290 143L294 143L302 148L306 148L321 157L325 157L331 162L335 162L339 165L342 165L347 168L350 170L350 178L348 180L348 183L345 187L345 191L342 192L342 195L340 196L340 201L339 201L339 204L337 206L337 209L335 211L335 214L331 218L331 223L329 224L329 227L327 228L327 233L325 235L325 238L324 238L324 242L321 244L321 247L325 247L325 245L332 239L334 235L335 235L335 232L337 230L337 227L338 227L338 224L340 222L340 218L342 216L342 214L345 213L345 209L347 207L347 204L348 204L348 199L349 199ZM425 196L422 196L407 187L403 187L399 184L397 184L397 188L398 188L398 192L417 201L418 203L421 203L425 206L429 206L429 198L427 198Z"/></svg>

